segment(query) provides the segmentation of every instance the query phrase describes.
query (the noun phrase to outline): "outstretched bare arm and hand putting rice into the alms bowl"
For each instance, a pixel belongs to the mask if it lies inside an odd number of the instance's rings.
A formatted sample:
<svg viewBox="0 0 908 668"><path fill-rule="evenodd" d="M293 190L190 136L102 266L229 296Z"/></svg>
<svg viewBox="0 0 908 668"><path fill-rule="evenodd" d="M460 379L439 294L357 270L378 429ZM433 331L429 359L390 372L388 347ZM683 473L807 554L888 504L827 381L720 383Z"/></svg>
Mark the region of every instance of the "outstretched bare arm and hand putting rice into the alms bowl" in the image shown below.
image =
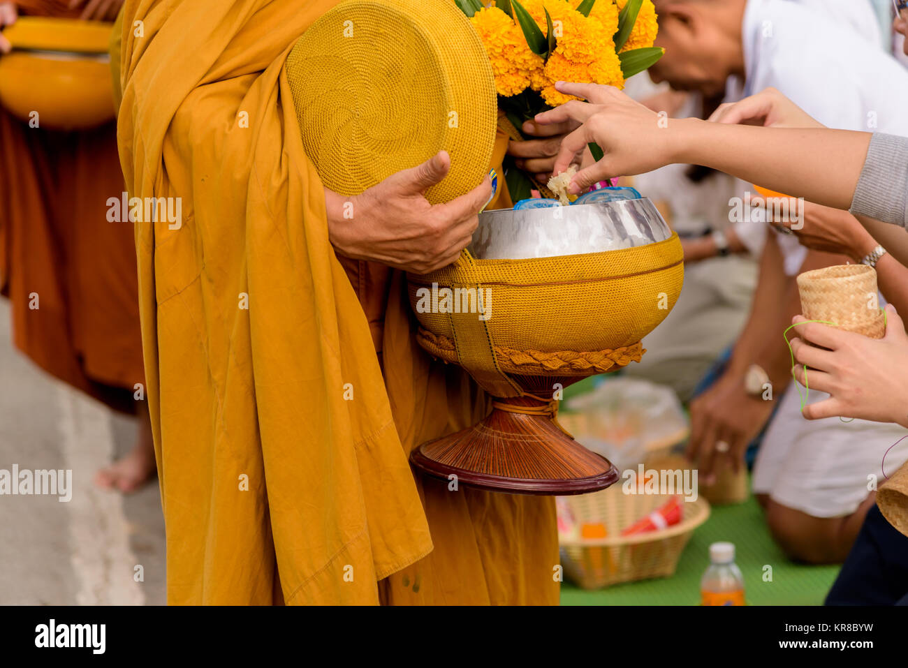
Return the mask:
<svg viewBox="0 0 908 668"><path fill-rule="evenodd" d="M567 169L578 147L589 142L597 142L605 153L602 160L577 172L570 192L581 192L594 182L616 175L650 172L682 162L706 165L775 191L847 210L861 181L873 136L844 130L765 128L696 119L666 123L610 86L558 83L558 88L585 97L590 103L573 101L537 116L538 123L572 122L577 127L561 142L553 171ZM889 157L885 162L892 160ZM908 172L908 163L902 165L902 171ZM874 187L889 192L892 182L876 183ZM887 222L904 224L904 212L898 220Z"/></svg>

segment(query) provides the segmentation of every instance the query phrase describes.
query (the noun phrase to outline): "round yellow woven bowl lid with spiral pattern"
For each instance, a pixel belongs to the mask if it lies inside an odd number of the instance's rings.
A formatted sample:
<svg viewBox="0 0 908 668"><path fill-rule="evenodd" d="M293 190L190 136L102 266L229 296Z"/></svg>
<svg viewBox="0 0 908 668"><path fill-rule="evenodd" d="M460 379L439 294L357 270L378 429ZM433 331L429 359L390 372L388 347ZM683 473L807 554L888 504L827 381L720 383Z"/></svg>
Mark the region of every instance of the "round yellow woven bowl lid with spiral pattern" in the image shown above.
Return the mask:
<svg viewBox="0 0 908 668"><path fill-rule="evenodd" d="M321 182L358 194L445 150L431 202L489 172L497 101L489 58L449 0L350 0L322 15L287 58L302 143Z"/></svg>

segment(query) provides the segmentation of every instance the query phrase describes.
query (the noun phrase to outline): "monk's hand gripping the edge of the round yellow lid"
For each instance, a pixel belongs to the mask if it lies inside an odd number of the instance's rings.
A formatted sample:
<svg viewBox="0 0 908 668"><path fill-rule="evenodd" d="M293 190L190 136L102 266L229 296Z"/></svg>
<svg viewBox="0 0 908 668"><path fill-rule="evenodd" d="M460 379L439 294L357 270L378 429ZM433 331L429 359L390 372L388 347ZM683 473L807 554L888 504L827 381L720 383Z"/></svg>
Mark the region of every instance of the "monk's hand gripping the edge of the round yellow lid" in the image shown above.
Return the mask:
<svg viewBox="0 0 908 668"><path fill-rule="evenodd" d="M447 267L458 259L492 196L487 176L456 200L432 204L425 192L448 174L441 151L353 197L325 189L328 233L334 249L354 260L381 262L413 273Z"/></svg>

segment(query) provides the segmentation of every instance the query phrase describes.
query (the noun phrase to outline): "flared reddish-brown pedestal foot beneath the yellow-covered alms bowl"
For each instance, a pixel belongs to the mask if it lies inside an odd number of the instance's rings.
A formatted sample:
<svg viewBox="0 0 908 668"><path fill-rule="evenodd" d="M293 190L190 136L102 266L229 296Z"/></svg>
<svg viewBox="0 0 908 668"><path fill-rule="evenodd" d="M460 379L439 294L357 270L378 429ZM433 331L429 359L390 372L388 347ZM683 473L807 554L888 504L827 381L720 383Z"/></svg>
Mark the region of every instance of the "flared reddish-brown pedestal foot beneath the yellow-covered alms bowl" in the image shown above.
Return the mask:
<svg viewBox="0 0 908 668"><path fill-rule="evenodd" d="M410 455L423 473L492 492L568 496L618 480L617 468L562 431L548 416L494 408L481 422L424 443Z"/></svg>

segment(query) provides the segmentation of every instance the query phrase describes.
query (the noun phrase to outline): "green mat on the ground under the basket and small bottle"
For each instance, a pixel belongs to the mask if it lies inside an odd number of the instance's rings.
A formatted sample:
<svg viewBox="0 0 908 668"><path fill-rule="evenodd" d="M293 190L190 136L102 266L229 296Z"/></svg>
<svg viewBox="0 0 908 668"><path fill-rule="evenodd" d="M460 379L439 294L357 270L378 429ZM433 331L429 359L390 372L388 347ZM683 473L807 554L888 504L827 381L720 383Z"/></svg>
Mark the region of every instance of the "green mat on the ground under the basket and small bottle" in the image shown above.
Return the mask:
<svg viewBox="0 0 908 668"><path fill-rule="evenodd" d="M773 542L763 511L751 497L744 504L712 509L706 524L687 543L675 575L616 585L595 592L566 582L562 605L699 605L700 578L709 565L709 544L735 544L749 605L822 605L839 566L793 564ZM770 572L766 566L771 566ZM772 580L768 577L772 575Z"/></svg>

